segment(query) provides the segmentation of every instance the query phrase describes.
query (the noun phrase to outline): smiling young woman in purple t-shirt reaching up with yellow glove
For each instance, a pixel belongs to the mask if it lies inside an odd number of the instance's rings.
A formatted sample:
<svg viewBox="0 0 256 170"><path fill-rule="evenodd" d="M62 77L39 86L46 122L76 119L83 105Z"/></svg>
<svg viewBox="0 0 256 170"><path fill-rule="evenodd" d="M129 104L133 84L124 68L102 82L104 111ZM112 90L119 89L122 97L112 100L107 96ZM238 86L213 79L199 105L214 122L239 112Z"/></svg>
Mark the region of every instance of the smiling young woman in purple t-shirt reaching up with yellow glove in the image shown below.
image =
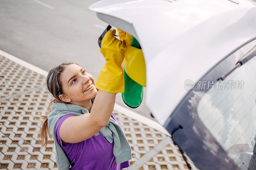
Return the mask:
<svg viewBox="0 0 256 170"><path fill-rule="evenodd" d="M41 128L42 145L51 134L58 169L123 169L130 166L131 147L113 108L116 93L124 92L122 61L126 45L109 30L101 42L107 63L95 84L76 63L50 70L47 87L54 99ZM97 89L99 89L97 91ZM71 165L71 167L70 167Z"/></svg>

